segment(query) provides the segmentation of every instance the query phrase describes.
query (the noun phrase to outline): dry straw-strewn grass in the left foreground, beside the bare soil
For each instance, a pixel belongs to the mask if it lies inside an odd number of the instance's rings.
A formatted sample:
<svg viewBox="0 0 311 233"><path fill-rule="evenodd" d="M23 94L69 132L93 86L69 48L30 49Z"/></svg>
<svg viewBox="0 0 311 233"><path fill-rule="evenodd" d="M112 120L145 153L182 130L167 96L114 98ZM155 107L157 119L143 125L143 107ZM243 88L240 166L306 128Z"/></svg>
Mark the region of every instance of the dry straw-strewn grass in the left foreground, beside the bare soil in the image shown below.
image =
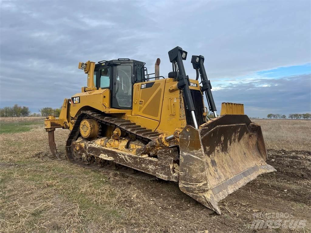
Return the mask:
<svg viewBox="0 0 311 233"><path fill-rule="evenodd" d="M58 141L67 134L56 131ZM111 187L109 174L49 158L44 130L0 139L1 231L111 232L139 223L139 210L120 202L132 190Z"/></svg>

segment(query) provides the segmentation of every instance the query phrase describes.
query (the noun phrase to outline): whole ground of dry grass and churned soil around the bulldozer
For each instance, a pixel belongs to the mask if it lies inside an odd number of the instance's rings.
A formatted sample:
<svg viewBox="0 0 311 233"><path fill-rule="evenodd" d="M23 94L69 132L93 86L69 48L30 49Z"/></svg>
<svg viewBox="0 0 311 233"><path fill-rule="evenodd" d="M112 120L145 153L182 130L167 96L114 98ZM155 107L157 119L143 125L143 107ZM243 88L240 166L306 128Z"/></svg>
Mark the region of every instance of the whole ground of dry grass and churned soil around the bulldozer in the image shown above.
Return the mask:
<svg viewBox="0 0 311 233"><path fill-rule="evenodd" d="M53 158L43 118L27 120L0 119L0 232L310 232L311 121L255 120L267 148L287 151L269 150L277 172L222 200L217 216L174 182ZM55 131L63 155L68 133ZM254 214L267 212L290 213L306 226L253 230Z"/></svg>

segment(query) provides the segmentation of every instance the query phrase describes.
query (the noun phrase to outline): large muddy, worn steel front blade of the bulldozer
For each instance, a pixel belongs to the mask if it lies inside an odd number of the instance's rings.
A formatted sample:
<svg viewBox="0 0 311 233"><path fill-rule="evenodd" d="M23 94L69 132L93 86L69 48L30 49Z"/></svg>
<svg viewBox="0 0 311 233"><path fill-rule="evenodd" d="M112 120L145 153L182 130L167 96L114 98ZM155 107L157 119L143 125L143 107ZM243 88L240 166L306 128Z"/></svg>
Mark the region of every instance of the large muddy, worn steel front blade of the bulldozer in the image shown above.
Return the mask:
<svg viewBox="0 0 311 233"><path fill-rule="evenodd" d="M276 171L259 125L246 115L223 115L180 134L179 188L220 214L217 202L258 175Z"/></svg>

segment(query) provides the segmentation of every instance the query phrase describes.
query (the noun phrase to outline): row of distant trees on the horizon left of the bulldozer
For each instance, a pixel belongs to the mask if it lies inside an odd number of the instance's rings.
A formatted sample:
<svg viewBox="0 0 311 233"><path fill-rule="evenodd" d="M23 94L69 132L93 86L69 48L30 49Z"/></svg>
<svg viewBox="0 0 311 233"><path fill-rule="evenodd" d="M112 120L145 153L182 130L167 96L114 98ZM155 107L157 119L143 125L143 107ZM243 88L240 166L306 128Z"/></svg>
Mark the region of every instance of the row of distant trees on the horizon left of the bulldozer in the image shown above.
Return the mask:
<svg viewBox="0 0 311 233"><path fill-rule="evenodd" d="M0 108L0 117L48 117L54 115L59 117L61 108L43 107L39 109L40 114L30 114L29 107L14 104L13 107Z"/></svg>

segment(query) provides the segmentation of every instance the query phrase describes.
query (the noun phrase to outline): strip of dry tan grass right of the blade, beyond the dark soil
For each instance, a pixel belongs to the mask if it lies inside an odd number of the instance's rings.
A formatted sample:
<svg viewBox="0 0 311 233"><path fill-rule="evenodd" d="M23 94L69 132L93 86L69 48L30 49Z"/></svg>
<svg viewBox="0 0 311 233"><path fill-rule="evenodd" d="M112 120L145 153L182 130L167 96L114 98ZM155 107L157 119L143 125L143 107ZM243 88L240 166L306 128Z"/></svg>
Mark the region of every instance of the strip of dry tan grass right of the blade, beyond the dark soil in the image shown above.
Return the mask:
<svg viewBox="0 0 311 233"><path fill-rule="evenodd" d="M252 121L261 126L267 149L311 150L311 120Z"/></svg>

